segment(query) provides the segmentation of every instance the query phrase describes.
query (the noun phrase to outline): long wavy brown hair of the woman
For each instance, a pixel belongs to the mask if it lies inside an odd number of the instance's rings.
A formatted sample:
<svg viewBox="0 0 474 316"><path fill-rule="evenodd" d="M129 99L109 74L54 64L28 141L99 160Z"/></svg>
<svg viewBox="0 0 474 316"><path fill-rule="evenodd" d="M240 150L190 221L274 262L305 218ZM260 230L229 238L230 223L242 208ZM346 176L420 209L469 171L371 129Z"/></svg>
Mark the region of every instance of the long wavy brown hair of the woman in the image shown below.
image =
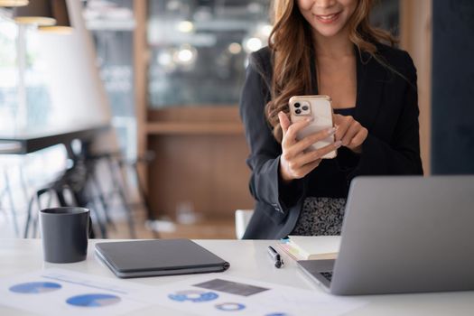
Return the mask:
<svg viewBox="0 0 474 316"><path fill-rule="evenodd" d="M382 64L376 55L375 42L388 42L395 38L383 30L372 27L368 16L373 0L358 0L356 10L349 19L349 40ZM271 83L272 99L265 106L265 116L274 128L274 137L281 142L283 134L278 113L289 113L288 100L292 96L311 94L311 58L314 45L311 25L302 16L296 0L274 0L274 29L268 46L273 51L274 75Z"/></svg>

